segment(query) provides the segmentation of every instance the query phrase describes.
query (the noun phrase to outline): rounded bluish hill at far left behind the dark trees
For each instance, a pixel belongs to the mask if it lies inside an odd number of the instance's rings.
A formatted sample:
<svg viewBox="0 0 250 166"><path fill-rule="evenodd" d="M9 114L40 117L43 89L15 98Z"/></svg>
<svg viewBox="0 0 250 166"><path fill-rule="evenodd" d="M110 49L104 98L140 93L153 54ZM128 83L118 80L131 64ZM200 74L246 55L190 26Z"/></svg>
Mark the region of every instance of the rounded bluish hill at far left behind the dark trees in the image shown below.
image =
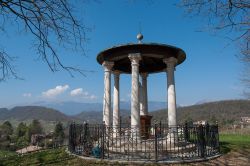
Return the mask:
<svg viewBox="0 0 250 166"><path fill-rule="evenodd" d="M71 121L72 118L65 114L46 107L22 106L14 107L10 110L0 109L0 120L26 121L39 119L44 121Z"/></svg>

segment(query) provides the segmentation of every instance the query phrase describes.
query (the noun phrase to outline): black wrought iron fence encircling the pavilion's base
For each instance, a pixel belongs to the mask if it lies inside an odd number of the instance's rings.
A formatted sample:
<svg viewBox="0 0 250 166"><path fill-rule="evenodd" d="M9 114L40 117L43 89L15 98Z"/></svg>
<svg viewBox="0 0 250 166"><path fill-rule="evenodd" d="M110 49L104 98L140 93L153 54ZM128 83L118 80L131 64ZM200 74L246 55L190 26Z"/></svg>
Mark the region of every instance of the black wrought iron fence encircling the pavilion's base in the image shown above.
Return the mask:
<svg viewBox="0 0 250 166"><path fill-rule="evenodd" d="M218 125L167 126L154 124L143 130L122 124L107 127L70 124L70 152L101 159L131 161L184 161L219 154Z"/></svg>

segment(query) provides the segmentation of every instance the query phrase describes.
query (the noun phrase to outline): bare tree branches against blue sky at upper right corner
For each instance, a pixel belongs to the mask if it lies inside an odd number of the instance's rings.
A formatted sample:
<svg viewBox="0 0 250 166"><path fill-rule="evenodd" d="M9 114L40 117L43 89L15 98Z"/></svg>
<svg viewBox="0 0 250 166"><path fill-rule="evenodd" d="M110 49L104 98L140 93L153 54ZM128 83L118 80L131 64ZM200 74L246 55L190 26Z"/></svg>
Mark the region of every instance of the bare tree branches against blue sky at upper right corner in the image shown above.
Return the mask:
<svg viewBox="0 0 250 166"><path fill-rule="evenodd" d="M245 66L242 80L246 88L250 89L250 1L181 0L179 5L186 9L187 14L207 19L209 30L235 42L240 48L239 57ZM247 91L245 94L248 94Z"/></svg>

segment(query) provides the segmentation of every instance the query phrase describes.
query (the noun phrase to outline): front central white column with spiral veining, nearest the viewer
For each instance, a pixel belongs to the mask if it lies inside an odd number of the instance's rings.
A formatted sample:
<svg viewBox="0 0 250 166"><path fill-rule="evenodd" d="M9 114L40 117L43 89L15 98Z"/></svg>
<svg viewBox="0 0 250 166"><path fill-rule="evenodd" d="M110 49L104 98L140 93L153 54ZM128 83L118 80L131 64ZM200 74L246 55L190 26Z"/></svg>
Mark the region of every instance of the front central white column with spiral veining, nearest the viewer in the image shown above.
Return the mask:
<svg viewBox="0 0 250 166"><path fill-rule="evenodd" d="M140 137L140 105L139 105L139 61L141 54L129 54L132 67L131 87L131 128L133 136Z"/></svg>

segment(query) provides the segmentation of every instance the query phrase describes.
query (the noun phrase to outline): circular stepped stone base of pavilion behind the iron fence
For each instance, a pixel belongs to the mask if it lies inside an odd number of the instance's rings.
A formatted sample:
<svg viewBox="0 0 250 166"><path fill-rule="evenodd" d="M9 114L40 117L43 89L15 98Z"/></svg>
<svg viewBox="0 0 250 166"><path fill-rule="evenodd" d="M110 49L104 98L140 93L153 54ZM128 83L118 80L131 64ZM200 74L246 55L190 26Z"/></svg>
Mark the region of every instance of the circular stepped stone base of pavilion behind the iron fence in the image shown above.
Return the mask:
<svg viewBox="0 0 250 166"><path fill-rule="evenodd" d="M107 140L106 140L107 141ZM209 157L201 157L201 149L192 142L187 141L173 141L165 138L137 140L131 137L116 137L113 141L108 140L109 144L104 147L107 161L141 161L141 162L187 162L196 160L206 160L217 156L217 152L206 146L205 149L209 151ZM157 144L155 144L157 143ZM93 147L99 146L97 142ZM75 150L78 154L84 154L79 151L79 147ZM80 148L81 149L81 148ZM91 151L90 153L91 154ZM85 155L86 156L86 155ZM212 156L212 157L210 157ZM90 159L95 159L88 157Z"/></svg>

